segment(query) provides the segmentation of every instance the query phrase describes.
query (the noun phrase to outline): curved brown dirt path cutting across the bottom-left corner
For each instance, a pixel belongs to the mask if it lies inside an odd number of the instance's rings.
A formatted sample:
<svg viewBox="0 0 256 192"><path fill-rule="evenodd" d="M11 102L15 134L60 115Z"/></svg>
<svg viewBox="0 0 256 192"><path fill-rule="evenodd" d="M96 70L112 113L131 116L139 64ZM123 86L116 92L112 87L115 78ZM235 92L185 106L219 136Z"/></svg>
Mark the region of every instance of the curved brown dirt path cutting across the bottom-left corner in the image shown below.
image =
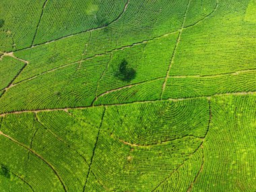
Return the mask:
<svg viewBox="0 0 256 192"><path fill-rule="evenodd" d="M57 170L55 170L55 168L53 167L53 165L51 165L49 162L47 162L46 160L44 160L44 158L42 158L42 156L40 156L40 154L36 153L34 150L28 148L26 145L24 145L24 143L20 143L19 141L13 139L12 137L10 137L9 135L6 135L5 133L3 133L2 131L0 131L0 135L2 135L3 137L6 137L7 139L10 139L11 141L13 141L13 143L18 144L18 146L22 146L22 148L25 148L26 150L32 152L32 154L34 154L35 156L37 156L38 158L40 158L40 160L42 160L45 164L47 164L51 170L53 170L53 172L55 172L55 175L57 176L57 178L59 179L59 181L61 182L61 185L64 189L64 191L67 192L67 188L65 187L65 184L63 183L61 177L59 176L59 173L57 172Z"/></svg>

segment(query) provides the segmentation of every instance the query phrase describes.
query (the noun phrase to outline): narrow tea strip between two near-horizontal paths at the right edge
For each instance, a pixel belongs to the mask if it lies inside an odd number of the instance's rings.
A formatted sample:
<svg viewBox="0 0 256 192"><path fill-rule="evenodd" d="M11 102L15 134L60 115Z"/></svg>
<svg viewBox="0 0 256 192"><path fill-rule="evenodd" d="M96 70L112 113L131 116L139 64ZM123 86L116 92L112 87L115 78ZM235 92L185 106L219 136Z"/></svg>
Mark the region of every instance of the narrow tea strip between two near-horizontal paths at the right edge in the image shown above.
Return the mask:
<svg viewBox="0 0 256 192"><path fill-rule="evenodd" d="M255 82L255 70L205 77L169 77L163 98L191 98L235 92L255 92Z"/></svg>

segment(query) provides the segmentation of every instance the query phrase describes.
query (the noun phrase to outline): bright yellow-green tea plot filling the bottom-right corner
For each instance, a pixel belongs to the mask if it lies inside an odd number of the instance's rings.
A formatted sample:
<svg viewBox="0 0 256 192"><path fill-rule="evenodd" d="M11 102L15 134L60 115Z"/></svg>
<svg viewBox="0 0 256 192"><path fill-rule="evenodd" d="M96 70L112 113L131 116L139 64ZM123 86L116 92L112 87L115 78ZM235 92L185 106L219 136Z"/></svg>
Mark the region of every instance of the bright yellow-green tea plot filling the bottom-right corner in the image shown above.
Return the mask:
<svg viewBox="0 0 256 192"><path fill-rule="evenodd" d="M255 191L255 95L216 96L194 191Z"/></svg>

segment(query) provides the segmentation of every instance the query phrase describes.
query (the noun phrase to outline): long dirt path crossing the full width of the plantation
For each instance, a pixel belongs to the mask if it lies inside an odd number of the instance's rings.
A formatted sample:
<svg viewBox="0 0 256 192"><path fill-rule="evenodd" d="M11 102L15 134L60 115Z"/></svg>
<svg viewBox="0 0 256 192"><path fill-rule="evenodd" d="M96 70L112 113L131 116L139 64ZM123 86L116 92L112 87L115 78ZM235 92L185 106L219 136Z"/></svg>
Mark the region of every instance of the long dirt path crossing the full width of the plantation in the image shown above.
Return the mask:
<svg viewBox="0 0 256 192"><path fill-rule="evenodd" d="M167 98L163 100L146 100L146 101L135 101L135 102L126 102L121 104L99 104L96 106L75 106L75 107L65 107L65 108L44 108L44 109L33 109L33 110L13 110L11 112L7 113L1 113L0 117L5 117L6 115L11 114L21 114L21 113L34 113L34 112L50 112L50 111L56 111L56 110L72 110L72 109L85 109L85 108L94 108L94 107L102 107L102 106L125 106L129 104L141 104L141 103L154 103L154 102L163 102L163 101L173 101L173 102L179 102L183 100L192 100L196 98L206 98L210 99L214 96L243 96L243 95L255 95L256 92L232 92L232 93L223 93L223 94L213 94L210 96L195 96L195 97L187 97L187 98Z"/></svg>

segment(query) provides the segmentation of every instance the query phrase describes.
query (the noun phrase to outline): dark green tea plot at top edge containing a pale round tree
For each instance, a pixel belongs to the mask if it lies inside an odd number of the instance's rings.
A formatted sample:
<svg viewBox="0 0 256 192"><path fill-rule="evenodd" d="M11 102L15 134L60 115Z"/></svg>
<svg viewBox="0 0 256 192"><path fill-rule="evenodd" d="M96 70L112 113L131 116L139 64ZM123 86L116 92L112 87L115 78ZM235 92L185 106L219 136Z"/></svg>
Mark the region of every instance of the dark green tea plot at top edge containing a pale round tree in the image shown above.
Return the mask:
<svg viewBox="0 0 256 192"><path fill-rule="evenodd" d="M111 22L119 17L125 2L126 0L48 1L36 34L35 44L100 28L106 25L102 18ZM53 17L54 20L52 20ZM99 22L102 23L99 25Z"/></svg>

